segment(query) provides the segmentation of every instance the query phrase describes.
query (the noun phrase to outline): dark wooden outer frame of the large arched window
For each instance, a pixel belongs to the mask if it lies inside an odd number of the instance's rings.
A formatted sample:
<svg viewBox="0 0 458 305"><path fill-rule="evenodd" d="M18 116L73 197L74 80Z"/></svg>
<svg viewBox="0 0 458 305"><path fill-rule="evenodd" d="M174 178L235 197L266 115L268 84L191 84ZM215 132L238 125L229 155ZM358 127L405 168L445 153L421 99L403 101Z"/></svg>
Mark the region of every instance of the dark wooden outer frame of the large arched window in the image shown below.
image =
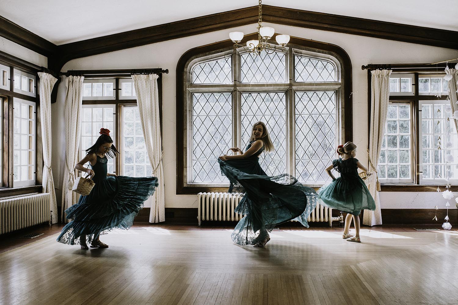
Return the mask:
<svg viewBox="0 0 458 305"><path fill-rule="evenodd" d="M256 39L256 34L247 35L247 39ZM290 48L304 50L305 52L326 54L332 56L333 58L337 59L340 64L341 70L341 109L342 112L342 122L341 128L343 130L342 139L344 141L351 141L353 137L353 124L352 124L352 95L351 95L351 88L352 88L352 72L351 72L351 61L349 59L348 54L340 47L328 44L328 43L321 43L316 41L311 41L303 38L291 37ZM185 150L187 149L187 138L185 137L185 128L186 125L186 103L187 97L185 92L187 92L187 81L188 81L188 65L193 59L196 58L205 58L207 55L212 54L221 54L223 52L230 53L233 50L232 44L228 41L213 43L210 45L202 46L193 48L188 50L183 54L180 58L180 61L177 64L176 70L176 77L177 77L177 86L176 86L176 109L177 109L177 128L176 128L176 138L177 138L177 186L176 186L176 193L177 194L196 194L199 192L226 192L227 187L212 187L212 186L189 186L185 183ZM233 52L233 51L232 51ZM300 54L298 54L300 55ZM237 58L237 57L236 57ZM290 61L292 62L292 61ZM287 67L287 69L290 69ZM294 67L293 67L294 69ZM234 73L234 72L233 72ZM269 84L276 86L277 84ZM226 85L222 85L226 86ZM230 87L234 85L230 84ZM246 85L245 85L246 86ZM251 84L248 86L252 86ZM323 88L324 90L325 88ZM291 117L291 116L290 116ZM292 118L294 119L294 118ZM289 118L289 121L291 118ZM287 122L287 125L290 122ZM287 130L288 132L288 130ZM234 135L234 137L237 135ZM287 156L287 161L291 158L291 156ZM290 162L290 161L289 161ZM317 187L316 187L317 188Z"/></svg>

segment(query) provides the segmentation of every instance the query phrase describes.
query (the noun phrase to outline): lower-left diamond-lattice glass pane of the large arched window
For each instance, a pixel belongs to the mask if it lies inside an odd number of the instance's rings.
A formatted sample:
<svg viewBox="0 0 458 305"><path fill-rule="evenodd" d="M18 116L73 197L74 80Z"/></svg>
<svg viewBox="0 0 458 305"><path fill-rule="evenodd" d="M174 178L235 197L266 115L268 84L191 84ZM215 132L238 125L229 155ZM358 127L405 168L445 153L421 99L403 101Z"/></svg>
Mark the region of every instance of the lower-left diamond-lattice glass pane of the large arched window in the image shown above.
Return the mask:
<svg viewBox="0 0 458 305"><path fill-rule="evenodd" d="M191 182L227 182L227 178L219 170L218 157L224 155L232 147L231 144L231 93L194 93Z"/></svg>

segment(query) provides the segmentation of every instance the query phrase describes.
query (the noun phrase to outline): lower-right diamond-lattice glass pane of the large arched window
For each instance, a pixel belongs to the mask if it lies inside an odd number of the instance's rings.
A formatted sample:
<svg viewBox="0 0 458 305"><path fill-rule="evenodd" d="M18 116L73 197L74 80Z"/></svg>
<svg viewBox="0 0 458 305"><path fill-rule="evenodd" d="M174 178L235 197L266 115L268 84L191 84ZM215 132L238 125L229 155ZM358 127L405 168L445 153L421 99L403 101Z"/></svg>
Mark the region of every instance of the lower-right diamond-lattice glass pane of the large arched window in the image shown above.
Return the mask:
<svg viewBox="0 0 458 305"><path fill-rule="evenodd" d="M304 183L324 183L324 171L336 158L336 92L305 91L295 94L296 176Z"/></svg>

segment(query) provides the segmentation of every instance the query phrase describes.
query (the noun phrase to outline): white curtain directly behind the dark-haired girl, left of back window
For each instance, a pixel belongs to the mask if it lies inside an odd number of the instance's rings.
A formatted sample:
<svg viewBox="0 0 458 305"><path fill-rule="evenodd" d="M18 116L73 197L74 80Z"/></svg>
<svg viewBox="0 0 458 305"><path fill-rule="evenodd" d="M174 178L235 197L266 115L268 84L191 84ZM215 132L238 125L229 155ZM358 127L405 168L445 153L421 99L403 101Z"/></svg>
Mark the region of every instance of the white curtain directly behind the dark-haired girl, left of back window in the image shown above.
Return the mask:
<svg viewBox="0 0 458 305"><path fill-rule="evenodd" d="M76 203L76 193L71 189L75 183L75 165L81 136L82 87L84 76L69 76L65 80L65 168L62 183L62 222L68 222L64 211Z"/></svg>

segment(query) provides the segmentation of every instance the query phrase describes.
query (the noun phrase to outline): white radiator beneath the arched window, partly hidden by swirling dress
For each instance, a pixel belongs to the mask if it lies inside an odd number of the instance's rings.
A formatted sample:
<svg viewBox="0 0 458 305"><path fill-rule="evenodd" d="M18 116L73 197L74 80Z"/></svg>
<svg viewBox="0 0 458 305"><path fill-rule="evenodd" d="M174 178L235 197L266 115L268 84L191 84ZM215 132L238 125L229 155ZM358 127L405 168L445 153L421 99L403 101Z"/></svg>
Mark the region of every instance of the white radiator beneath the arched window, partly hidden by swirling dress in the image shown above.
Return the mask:
<svg viewBox="0 0 458 305"><path fill-rule="evenodd" d="M234 209L243 198L243 194L236 193L198 193L199 203L197 221L201 225L202 220L238 221L245 215L234 212ZM333 220L339 217L332 216L333 209L317 203L316 208L311 212L308 222L328 222L333 226Z"/></svg>

